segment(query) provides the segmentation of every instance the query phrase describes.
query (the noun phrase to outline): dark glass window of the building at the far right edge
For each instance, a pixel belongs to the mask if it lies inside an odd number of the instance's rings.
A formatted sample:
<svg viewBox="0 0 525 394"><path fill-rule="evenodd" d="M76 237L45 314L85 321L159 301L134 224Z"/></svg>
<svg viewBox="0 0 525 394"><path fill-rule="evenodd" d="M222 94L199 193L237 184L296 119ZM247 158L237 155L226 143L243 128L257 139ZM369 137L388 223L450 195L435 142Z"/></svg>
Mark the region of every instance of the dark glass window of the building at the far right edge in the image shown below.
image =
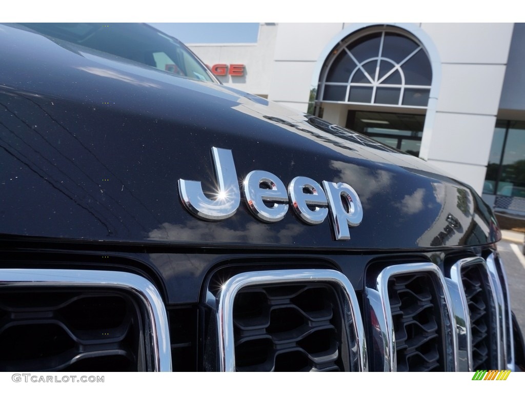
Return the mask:
<svg viewBox="0 0 525 394"><path fill-rule="evenodd" d="M498 120L483 192L525 198L525 122Z"/></svg>

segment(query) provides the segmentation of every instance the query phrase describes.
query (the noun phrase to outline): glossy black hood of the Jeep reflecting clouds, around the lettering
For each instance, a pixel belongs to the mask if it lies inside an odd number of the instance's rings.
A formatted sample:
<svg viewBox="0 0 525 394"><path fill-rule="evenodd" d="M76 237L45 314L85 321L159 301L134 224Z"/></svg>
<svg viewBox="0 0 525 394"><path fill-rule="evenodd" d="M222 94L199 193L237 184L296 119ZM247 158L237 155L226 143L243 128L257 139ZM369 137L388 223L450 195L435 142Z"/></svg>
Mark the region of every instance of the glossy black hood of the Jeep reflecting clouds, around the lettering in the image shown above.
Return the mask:
<svg viewBox="0 0 525 394"><path fill-rule="evenodd" d="M22 29L0 28L0 233L82 242L332 250L482 245L499 232L468 186L421 159L224 86L176 77ZM352 186L363 220L292 210L263 223L246 202L216 222L183 206L179 179L213 191L212 147L285 185Z"/></svg>

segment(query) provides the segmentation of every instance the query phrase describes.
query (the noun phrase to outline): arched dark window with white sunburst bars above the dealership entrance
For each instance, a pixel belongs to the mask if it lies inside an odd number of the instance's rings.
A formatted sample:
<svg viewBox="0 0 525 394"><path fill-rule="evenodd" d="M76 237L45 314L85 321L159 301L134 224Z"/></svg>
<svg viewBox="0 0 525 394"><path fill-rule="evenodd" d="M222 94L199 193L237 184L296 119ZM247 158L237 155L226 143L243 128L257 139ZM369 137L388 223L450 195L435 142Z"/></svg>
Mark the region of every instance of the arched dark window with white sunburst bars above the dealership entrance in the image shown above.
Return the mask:
<svg viewBox="0 0 525 394"><path fill-rule="evenodd" d="M323 66L319 101L426 108L432 67L421 44L396 28L348 37Z"/></svg>

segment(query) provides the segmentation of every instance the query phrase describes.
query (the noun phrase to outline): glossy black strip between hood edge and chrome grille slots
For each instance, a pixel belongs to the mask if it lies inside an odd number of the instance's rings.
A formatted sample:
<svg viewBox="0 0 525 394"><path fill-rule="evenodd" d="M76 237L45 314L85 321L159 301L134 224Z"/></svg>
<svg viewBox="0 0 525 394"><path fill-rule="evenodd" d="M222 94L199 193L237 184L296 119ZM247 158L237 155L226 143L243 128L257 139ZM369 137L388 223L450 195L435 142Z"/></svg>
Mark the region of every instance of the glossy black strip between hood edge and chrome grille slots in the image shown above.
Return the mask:
<svg viewBox="0 0 525 394"><path fill-rule="evenodd" d="M142 250L141 250L142 249ZM487 255L491 247L411 253L327 253L265 251L225 248L162 248L107 244L0 241L2 268L96 269L139 274L154 283L167 305L193 304L206 298L207 281L226 280L232 273L267 269L335 269L348 277L359 294L365 277L375 278L385 266L433 262L443 270L445 262ZM220 286L221 283L214 283Z"/></svg>

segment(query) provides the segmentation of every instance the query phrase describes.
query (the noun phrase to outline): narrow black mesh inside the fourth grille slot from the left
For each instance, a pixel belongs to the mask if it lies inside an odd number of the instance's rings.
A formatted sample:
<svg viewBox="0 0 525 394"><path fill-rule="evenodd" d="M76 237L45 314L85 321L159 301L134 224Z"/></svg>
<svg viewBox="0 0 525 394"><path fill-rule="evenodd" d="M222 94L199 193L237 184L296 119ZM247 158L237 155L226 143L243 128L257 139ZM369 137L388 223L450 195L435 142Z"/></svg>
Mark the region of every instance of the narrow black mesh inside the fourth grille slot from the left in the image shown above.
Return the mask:
<svg viewBox="0 0 525 394"><path fill-rule="evenodd" d="M465 290L468 312L470 315L470 335L472 345L472 369L490 369L497 367L491 359L491 317L487 299L489 289L483 280L479 264L472 264L461 269L461 282ZM494 333L495 334L495 333Z"/></svg>

